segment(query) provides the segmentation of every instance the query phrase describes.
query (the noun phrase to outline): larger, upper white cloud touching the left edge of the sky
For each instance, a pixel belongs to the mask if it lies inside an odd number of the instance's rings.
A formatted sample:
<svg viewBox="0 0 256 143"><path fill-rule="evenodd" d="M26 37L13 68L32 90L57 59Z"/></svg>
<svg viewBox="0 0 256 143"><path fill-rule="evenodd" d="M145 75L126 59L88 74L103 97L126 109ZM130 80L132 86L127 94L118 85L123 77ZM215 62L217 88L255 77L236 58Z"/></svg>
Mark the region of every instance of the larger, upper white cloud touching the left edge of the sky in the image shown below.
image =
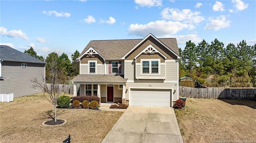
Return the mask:
<svg viewBox="0 0 256 143"><path fill-rule="evenodd" d="M7 31L7 29L4 28L3 26L0 27L0 34L1 34L1 36L6 35L7 37L11 37L11 38L22 38L22 39L25 39L25 40L29 39L26 36L26 33L22 32L21 30L10 30L10 31Z"/></svg>

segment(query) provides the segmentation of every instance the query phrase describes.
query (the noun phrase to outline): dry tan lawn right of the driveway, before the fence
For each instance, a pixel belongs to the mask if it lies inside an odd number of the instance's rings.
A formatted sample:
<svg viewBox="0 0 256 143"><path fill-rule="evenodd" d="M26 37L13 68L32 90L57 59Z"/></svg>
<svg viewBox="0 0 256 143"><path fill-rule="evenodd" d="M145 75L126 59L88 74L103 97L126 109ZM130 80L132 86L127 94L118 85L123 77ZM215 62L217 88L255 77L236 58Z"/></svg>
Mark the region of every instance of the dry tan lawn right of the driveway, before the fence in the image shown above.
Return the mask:
<svg viewBox="0 0 256 143"><path fill-rule="evenodd" d="M255 107L249 100L187 98L186 110L175 114L184 143L255 143Z"/></svg>

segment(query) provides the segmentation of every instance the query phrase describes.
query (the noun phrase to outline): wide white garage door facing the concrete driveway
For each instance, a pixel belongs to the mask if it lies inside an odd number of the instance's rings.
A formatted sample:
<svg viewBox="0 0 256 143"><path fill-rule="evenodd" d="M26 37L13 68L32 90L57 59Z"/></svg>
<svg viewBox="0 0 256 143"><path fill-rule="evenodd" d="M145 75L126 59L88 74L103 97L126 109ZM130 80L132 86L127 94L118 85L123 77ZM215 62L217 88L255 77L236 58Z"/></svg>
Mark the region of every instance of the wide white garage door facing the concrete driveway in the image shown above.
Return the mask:
<svg viewBox="0 0 256 143"><path fill-rule="evenodd" d="M131 106L164 106L170 107L171 90L131 89Z"/></svg>

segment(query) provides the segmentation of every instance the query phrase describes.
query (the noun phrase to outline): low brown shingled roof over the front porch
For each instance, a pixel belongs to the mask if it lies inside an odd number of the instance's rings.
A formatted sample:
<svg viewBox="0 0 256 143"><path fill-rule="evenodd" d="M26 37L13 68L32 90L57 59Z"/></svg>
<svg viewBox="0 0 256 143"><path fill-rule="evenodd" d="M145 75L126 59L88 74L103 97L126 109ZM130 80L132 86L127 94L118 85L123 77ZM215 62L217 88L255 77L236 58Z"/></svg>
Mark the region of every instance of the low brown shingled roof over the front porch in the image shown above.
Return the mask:
<svg viewBox="0 0 256 143"><path fill-rule="evenodd" d="M121 75L99 75L99 74L79 74L71 81L73 82L126 82L127 79Z"/></svg>

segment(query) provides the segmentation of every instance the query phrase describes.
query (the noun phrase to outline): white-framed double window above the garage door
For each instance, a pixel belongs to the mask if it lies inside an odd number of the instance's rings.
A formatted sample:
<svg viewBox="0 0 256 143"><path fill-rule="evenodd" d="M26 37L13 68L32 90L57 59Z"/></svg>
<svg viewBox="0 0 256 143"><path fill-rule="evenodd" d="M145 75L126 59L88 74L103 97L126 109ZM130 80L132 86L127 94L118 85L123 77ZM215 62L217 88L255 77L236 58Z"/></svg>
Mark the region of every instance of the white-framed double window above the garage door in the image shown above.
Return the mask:
<svg viewBox="0 0 256 143"><path fill-rule="evenodd" d="M142 60L142 74L159 73L159 63L158 59Z"/></svg>

